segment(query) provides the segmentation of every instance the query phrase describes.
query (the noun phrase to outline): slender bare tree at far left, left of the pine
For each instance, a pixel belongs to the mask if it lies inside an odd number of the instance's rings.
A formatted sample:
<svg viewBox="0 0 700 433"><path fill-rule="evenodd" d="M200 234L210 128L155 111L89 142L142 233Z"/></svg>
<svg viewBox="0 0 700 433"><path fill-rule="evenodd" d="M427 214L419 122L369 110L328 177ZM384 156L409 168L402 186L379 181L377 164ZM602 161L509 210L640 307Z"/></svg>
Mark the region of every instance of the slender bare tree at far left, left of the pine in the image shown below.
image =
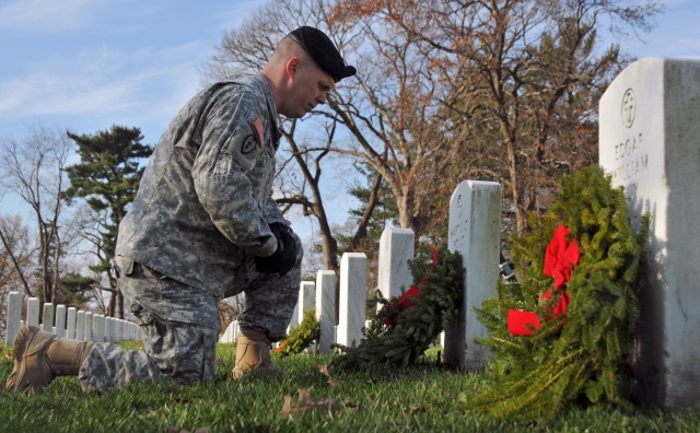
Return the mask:
<svg viewBox="0 0 700 433"><path fill-rule="evenodd" d="M58 286L63 254L63 169L70 149L71 143L61 131L44 127L32 129L22 142L11 138L0 143L2 186L28 204L36 223L42 302L52 302Z"/></svg>

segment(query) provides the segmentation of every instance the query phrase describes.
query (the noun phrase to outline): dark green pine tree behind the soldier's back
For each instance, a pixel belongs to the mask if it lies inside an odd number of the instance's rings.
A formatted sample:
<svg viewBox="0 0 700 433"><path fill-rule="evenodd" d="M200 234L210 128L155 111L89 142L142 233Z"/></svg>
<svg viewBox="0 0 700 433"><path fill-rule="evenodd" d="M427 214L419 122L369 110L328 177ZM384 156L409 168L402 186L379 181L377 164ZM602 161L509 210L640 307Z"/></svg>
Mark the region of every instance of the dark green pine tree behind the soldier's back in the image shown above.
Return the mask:
<svg viewBox="0 0 700 433"><path fill-rule="evenodd" d="M143 167L142 159L149 157L152 148L142 144L139 128L113 126L108 131L94 136L68 132L78 144L81 162L67 168L70 188L68 198L84 197L91 209L107 212L108 220L101 224L100 262L91 266L95 272L107 272L113 293L109 314L124 317L121 296L116 291L116 280L109 274L117 242L117 231L126 214L126 207L136 196Z"/></svg>

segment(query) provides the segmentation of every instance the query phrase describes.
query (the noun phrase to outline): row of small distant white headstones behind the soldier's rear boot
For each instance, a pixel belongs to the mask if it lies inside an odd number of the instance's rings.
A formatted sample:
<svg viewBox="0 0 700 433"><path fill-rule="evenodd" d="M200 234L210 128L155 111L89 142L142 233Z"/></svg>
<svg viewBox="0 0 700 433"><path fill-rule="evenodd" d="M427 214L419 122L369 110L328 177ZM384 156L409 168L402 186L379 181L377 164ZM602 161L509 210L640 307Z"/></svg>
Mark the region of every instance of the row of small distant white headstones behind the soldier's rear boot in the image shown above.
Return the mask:
<svg viewBox="0 0 700 433"><path fill-rule="evenodd" d="M22 320L22 294L10 292L8 297L8 323L5 343L12 346L22 325L33 325L58 337L81 341L116 342L141 340L141 329L135 323L106 317L102 314L79 311L66 305L44 304L39 323L39 300L30 297L26 304L26 320Z"/></svg>

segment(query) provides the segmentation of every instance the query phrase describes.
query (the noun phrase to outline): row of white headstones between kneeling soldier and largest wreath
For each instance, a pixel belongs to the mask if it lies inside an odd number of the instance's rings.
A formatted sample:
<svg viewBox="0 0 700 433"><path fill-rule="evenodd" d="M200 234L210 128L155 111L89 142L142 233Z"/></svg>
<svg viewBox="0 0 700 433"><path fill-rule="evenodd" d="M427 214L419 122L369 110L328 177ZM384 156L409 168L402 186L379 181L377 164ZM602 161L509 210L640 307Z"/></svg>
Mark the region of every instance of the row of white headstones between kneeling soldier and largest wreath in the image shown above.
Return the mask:
<svg viewBox="0 0 700 433"><path fill-rule="evenodd" d="M497 296L500 264L501 187L497 183L465 180L455 189L450 203L448 248L462 254L466 269L464 302L459 315L441 336L446 363L464 368L486 364L488 352L474 342L487 337L486 328L474 314L488 297ZM385 299L400 295L413 277L408 262L415 255L415 234L409 229L388 227L380 239L377 286ZM338 317L336 285L339 281ZM340 272L319 270L316 281L302 281L299 302L288 330L303 319L303 312L315 311L320 326L318 351L332 352L332 344L352 346L362 339L366 321L368 259L363 253L346 253ZM336 326L336 324L338 324ZM224 330L220 341L233 342L237 323Z"/></svg>

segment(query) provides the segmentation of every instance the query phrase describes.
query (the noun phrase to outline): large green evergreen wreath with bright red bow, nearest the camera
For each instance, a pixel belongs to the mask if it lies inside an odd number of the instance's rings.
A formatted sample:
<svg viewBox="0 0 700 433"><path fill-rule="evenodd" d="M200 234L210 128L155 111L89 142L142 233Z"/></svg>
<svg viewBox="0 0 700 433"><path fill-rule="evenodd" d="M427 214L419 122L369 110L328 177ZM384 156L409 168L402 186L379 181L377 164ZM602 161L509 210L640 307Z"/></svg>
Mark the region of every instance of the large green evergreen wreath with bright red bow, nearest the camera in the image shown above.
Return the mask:
<svg viewBox="0 0 700 433"><path fill-rule="evenodd" d="M518 281L500 282L498 299L477 309L490 335L477 341L491 349L490 386L468 408L546 423L574 403L629 407L622 373L649 216L635 235L622 188L590 166L564 176L547 214L529 224L514 237Z"/></svg>

